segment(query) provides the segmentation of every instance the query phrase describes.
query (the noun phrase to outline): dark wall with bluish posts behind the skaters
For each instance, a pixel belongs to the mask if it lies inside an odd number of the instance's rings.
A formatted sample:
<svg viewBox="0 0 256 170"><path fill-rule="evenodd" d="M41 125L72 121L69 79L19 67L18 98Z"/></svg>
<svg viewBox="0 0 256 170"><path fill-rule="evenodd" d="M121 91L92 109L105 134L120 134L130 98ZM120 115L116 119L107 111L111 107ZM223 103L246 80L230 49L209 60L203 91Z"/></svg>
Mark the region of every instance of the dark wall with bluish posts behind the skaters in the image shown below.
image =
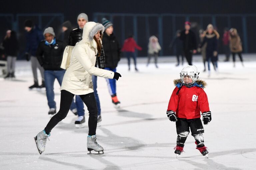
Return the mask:
<svg viewBox="0 0 256 170"><path fill-rule="evenodd" d="M0 13L1 14L13 14L16 16L17 14L24 13L24 14L39 14L39 13L60 13L64 15L64 21L69 20L71 21L73 27L76 27L76 18L79 13L86 13L89 17L89 21L93 20L93 13L96 12L104 12L104 13L130 13L130 14L165 14L165 13L172 13L172 14L256 14L255 7L256 1L255 0L147 0L147 1L139 1L139 0L129 0L129 1L122 1L122 0L112 0L112 1L88 1L88 0L74 0L74 1L66 1L66 0L53 0L53 1L0 1ZM23 31L23 22L25 19L30 18L38 24L38 17L31 16L31 17L19 17L19 29L18 29L18 36L19 40L23 42L21 44L21 51L24 48L24 31ZM47 24L47 22L52 17L42 17L42 28ZM7 22L8 17L1 17L0 18L0 40L3 39L5 36L5 31L7 29L11 29L12 24ZM15 18L16 20L16 18ZM114 17L114 24L115 24L115 32L121 42L121 32L118 31L120 27L120 18ZM120 20L120 21L119 21ZM100 19L98 19L100 21ZM169 22L170 21L170 22ZM176 19L176 29L183 29L183 23L185 21L185 17L180 17ZM190 18L191 22L199 22L198 17ZM203 29L209 24L211 18L207 19L204 18ZM138 18L138 27L143 28L145 27L142 23L144 22L143 17ZM223 33L223 28L227 27L227 21L225 18L218 18L217 26L219 28L220 35ZM132 19L126 17L125 27L126 27L126 34L134 34L132 31ZM151 17L149 20L149 27L150 27L150 35L158 34L158 27L157 27L157 18ZM163 18L163 50L164 55L172 54L171 51L168 50L169 43L173 38L172 30L172 22L171 17ZM248 25L248 48L249 52L256 52L254 49L256 42L255 42L255 34L254 30L256 29L256 17L251 17L247 19ZM52 27L54 27L55 32L60 31L61 20L57 17L52 22ZM236 27L238 32L240 33L241 39L243 40L242 34L242 23L241 17L232 17L231 19L232 27ZM202 26L201 26L202 27ZM198 31L199 28L195 28L195 31ZM146 55L146 48L147 48L147 41L148 37L143 32L143 29L138 29L138 34L141 35L138 37L138 43L143 47L143 51L139 52L140 56ZM127 37L127 35L125 35ZM122 44L122 42L121 42ZM23 45L23 46L22 46ZM221 49L220 49L221 51Z"/></svg>

